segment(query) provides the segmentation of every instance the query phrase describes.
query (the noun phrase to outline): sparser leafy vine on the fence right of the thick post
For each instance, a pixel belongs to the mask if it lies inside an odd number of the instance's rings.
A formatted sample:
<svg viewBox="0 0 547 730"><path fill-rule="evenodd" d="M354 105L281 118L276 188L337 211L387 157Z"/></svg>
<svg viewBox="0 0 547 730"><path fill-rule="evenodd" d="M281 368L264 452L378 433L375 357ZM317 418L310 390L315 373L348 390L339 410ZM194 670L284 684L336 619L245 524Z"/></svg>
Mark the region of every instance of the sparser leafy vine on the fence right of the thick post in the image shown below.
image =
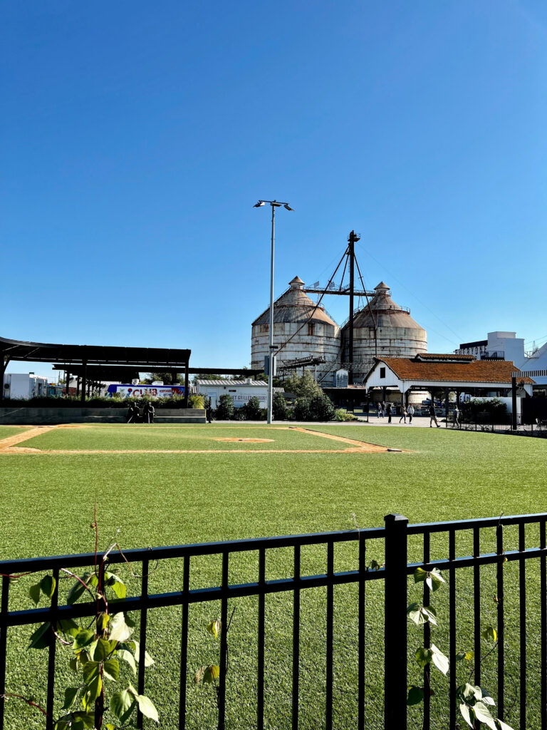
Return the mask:
<svg viewBox="0 0 547 730"><path fill-rule="evenodd" d="M422 568L417 568L414 571L414 583L426 583L430 591L434 592L438 591L446 581L438 569L426 571ZM437 613L432 606L411 603L406 613L408 618L411 618L418 626L424 623L429 623L430 626L438 626ZM492 640L495 648L497 635L493 626L486 626L486 629L482 631L482 636L486 640ZM479 728L481 723L484 723L491 730L513 730L507 723L504 723L500 718L496 718L492 714L492 707L495 707L496 704L492 696L484 688L470 683L474 673L472 664L474 656L475 653L469 650L459 652L456 655L456 661L468 662L470 665L468 680L464 684L459 685L456 690L456 699L459 703L459 712L461 712L462 718L473 729ZM443 675L446 675L449 671L449 658L433 643L430 647L419 647L416 650L415 659L416 663L422 669L427 665L434 664ZM427 687L419 687L416 685L410 685L408 687L406 704L419 704L423 701L426 692L432 694L432 689L429 686L429 677L428 675L426 676Z"/></svg>

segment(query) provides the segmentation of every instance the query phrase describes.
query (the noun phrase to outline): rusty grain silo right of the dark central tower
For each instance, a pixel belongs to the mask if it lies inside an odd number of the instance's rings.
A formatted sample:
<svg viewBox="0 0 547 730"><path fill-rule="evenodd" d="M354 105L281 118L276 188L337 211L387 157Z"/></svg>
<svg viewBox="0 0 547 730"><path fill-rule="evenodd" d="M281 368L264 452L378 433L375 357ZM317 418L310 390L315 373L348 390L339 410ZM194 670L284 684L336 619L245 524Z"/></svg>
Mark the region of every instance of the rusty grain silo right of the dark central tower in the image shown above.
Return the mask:
<svg viewBox="0 0 547 730"><path fill-rule="evenodd" d="M380 282L366 307L353 318L353 372L362 380L373 365L375 354L392 358L414 357L427 353L427 332L415 322L408 307L400 307L391 298L389 286ZM343 357L349 361L349 322L342 329Z"/></svg>

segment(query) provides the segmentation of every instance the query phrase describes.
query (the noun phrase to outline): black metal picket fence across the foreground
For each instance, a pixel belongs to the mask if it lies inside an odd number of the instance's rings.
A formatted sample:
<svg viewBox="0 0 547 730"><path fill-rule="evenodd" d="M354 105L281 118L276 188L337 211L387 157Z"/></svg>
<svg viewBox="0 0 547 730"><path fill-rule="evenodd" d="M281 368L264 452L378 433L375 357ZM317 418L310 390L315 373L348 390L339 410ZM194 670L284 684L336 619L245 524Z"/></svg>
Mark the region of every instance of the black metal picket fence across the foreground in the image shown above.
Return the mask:
<svg viewBox="0 0 547 730"><path fill-rule="evenodd" d="M459 628L457 626L457 601L459 597L457 572L460 569L472 569L472 593L473 605L468 609L473 614L473 637L474 637L474 682L478 685L481 682L481 610L484 605L484 596L481 599L481 568L492 565L496 568L495 583L497 588L496 613L497 613L497 715L503 719L505 712L505 648L507 637L505 636L505 601L504 601L504 577L503 565L506 562L516 561L519 575L516 591L518 593L518 715L519 730L547 730L547 583L546 583L546 523L547 513L537 515L518 515L513 517L484 518L476 520L459 520L456 522L440 522L427 524L408 524L408 520L402 515L387 515L385 526L376 529L360 529L352 531L327 532L321 534L305 534L286 537L274 537L265 539L246 539L230 542L212 542L196 545L181 545L176 547L152 548L147 550L128 550L122 556L119 553L110 553L109 563L121 563L127 560L130 564L140 564L141 571L141 592L139 596L128 597L122 602L110 604L110 612L134 611L140 614L140 656L138 669L138 691L144 693L146 685L146 669L144 653L147 649L147 617L150 612L160 607L180 607L181 609L181 635L180 640L180 677L179 677L179 730L187 726L187 687L189 677L187 670L187 646L188 646L188 610L191 604L220 601L222 626L227 626L228 602L244 596L257 596L258 612L257 626L251 627L251 637L256 641L257 647L257 702L255 723L259 730L265 726L264 715L264 686L265 686L265 602L266 597L273 593L292 593L292 729L299 727L300 708L300 653L305 649L300 641L300 596L302 591L309 588L326 588L326 641L325 641L325 715L317 718L317 727L326 727L330 730L333 727L333 656L335 652L335 627L333 623L333 596L334 588L339 585L354 584L357 587L357 614L358 614L358 660L357 660L357 718L355 725L359 730L370 726L370 715L368 715L368 697L365 694L368 656L366 650L365 631L365 607L367 596L367 584L369 581L380 580L384 582L384 686L389 687L389 692L384 693L384 721L381 727L386 730L403 730L407 727L407 685L408 667L407 657L410 645L407 637L407 606L408 606L408 577L413 575L418 567L427 570L438 569L446 577L448 583L448 626L449 632L449 688L446 694L446 706L449 707L449 721L446 725L450 730L458 727L457 720L457 637ZM504 529L513 527L518 531L518 547L513 550L506 550L508 547L504 540ZM488 535L495 534L495 550L490 553L481 552L481 536L484 531L490 530ZM493 533L492 533L493 531ZM468 545L472 550L468 555L457 555L457 535L467 535ZM448 545L448 552L445 558L432 559L432 537L443 536ZM437 539L435 537L435 540ZM418 542L416 543L416 539ZM371 542L376 541L376 550L382 550L385 558L384 565L374 566L371 569L368 563L367 551ZM335 547L341 543L356 542L358 553L358 568L344 572L335 572ZM414 545L411 553L416 552L418 561L409 562L409 545ZM527 547L527 542L532 542L532 547ZM435 545L437 543L435 542ZM302 575L300 569L301 550L305 546L323 546L326 548L327 562L326 572L320 575ZM266 580L266 560L271 550L276 548L288 548L292 551L291 575L277 580ZM257 580L251 583L233 584L230 583L230 558L236 553L244 551L257 551ZM222 580L220 585L209 585L205 588L190 589L190 570L192 561L197 556L220 556L222 559ZM101 561L102 554L98 555ZM182 558L183 578L182 590L167 593L149 593L148 576L150 564L153 561L165 561L172 558ZM82 566L93 564L93 554L58 556L50 558L34 558L29 560L15 560L0 562L0 573L4 576L1 583L1 604L0 604L0 695L6 691L6 664L7 664L7 638L10 629L16 626L24 626L44 621L60 621L63 619L78 619L93 617L96 615L96 606L92 602L65 605L60 604L57 587L53 594L50 607L36 608L31 610L10 610L9 593L11 575L20 575L29 571L50 572L58 578L61 569L76 569ZM535 582L527 580L527 563L535 560L539 566L539 578ZM101 563L102 564L102 563ZM528 574L528 579L529 579ZM460 587L463 583L460 584ZM419 588L422 591L422 588ZM533 594L533 595L532 595ZM540 678L533 677L540 685L539 693L539 718L534 724L527 726L527 688L529 673L527 663L527 652L529 640L527 639L527 602L533 598L534 604L539 604L540 612ZM430 589L423 583L423 605L430 603ZM412 625L411 625L412 626ZM430 624L424 623L422 629L424 647L429 647L431 642ZM53 637L52 637L53 638ZM227 634L221 631L220 634L220 666L226 666L227 659ZM50 643L47 661L47 713L44 720L47 730L53 728L53 711L55 696L55 640ZM429 683L429 668L424 669L424 685ZM229 700L229 697L228 697ZM226 702L227 691L225 672L220 672L218 687L218 727L224 729L226 726ZM161 710L161 708L159 708ZM514 708L513 708L514 710ZM408 712L414 711L408 710ZM430 696L426 693L423 707L424 729L430 728L432 719L430 708ZM416 717L414 715L414 717ZM461 718L461 726L464 726ZM142 728L143 718L139 714L137 726ZM443 725L444 726L444 725ZM378 725L374 725L378 727ZM0 730L4 730L4 702L0 701ZM9 729L6 729L9 730Z"/></svg>

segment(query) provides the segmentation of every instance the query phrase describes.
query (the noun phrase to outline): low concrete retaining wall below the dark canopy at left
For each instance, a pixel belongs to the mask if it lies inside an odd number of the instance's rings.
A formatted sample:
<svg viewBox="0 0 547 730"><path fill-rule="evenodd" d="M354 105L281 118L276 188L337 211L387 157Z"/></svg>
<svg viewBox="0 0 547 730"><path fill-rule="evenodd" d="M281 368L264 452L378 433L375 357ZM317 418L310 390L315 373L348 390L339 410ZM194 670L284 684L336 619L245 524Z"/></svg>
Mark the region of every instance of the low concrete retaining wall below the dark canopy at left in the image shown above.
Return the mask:
<svg viewBox="0 0 547 730"><path fill-rule="evenodd" d="M125 423L127 408L0 408L0 424L43 426L57 423ZM158 408L155 423L206 423L200 408Z"/></svg>

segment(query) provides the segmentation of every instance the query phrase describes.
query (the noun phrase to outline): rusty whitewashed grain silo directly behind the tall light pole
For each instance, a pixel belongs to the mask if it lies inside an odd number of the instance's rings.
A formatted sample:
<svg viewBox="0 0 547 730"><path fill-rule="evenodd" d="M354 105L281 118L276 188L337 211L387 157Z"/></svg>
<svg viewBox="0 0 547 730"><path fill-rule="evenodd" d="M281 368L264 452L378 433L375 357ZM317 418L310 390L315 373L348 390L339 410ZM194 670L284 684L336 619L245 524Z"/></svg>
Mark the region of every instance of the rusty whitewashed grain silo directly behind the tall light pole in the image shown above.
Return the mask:
<svg viewBox="0 0 547 730"><path fill-rule="evenodd" d="M327 362L340 358L340 328L303 291L304 283L297 276L279 299L274 301L274 345L278 366L282 361L307 356L324 357ZM252 323L252 368L264 366L269 352L270 308ZM285 344L287 343L287 344Z"/></svg>

